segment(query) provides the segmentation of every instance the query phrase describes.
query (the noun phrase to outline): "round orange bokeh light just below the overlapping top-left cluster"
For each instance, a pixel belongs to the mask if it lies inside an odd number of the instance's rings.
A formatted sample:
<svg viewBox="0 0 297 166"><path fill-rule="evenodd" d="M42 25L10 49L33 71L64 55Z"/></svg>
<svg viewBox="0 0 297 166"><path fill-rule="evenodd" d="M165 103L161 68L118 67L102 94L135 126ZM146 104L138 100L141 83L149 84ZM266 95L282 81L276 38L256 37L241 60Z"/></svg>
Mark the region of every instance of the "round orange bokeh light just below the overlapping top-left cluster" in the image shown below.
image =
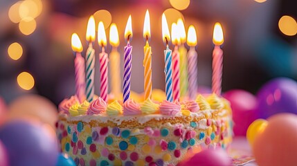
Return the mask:
<svg viewBox="0 0 297 166"><path fill-rule="evenodd" d="M26 17L19 22L19 30L24 35L30 35L36 29L36 21L32 17Z"/></svg>

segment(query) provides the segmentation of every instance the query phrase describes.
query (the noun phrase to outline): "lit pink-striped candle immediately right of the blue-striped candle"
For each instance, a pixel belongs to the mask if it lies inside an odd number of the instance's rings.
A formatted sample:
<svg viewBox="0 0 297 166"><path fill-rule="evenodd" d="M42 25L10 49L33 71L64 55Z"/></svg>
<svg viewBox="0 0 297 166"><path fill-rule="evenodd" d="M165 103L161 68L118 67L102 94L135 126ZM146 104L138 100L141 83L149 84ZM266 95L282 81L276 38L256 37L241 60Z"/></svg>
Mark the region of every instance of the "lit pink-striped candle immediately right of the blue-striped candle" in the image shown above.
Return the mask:
<svg viewBox="0 0 297 166"><path fill-rule="evenodd" d="M172 89L173 89L173 100L179 100L179 44L181 43L177 24L173 23L171 27L172 44L174 44L174 51L172 53Z"/></svg>

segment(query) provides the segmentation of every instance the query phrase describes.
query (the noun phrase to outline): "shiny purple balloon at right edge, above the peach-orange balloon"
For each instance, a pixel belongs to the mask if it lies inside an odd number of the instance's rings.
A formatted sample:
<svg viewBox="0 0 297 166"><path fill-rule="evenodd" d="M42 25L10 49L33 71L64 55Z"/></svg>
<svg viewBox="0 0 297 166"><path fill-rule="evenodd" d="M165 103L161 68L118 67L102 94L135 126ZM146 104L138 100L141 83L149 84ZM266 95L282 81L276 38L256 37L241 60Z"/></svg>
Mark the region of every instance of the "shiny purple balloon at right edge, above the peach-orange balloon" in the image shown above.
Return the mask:
<svg viewBox="0 0 297 166"><path fill-rule="evenodd" d="M278 77L264 84L257 94L260 118L268 118L276 113L297 114L297 82Z"/></svg>

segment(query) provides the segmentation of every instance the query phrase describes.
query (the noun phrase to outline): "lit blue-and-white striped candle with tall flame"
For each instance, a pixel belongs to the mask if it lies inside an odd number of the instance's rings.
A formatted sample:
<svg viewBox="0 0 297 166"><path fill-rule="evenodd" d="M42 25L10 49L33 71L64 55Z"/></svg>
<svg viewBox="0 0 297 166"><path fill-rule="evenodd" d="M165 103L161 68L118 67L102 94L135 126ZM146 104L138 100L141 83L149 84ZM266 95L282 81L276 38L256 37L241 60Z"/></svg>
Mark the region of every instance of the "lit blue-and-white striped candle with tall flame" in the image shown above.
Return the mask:
<svg viewBox="0 0 297 166"><path fill-rule="evenodd" d="M167 20L164 13L162 15L162 37L163 37L163 42L166 45L166 50L164 50L166 100L168 102L172 102L173 101L172 99L172 50L169 49L170 33L169 33Z"/></svg>

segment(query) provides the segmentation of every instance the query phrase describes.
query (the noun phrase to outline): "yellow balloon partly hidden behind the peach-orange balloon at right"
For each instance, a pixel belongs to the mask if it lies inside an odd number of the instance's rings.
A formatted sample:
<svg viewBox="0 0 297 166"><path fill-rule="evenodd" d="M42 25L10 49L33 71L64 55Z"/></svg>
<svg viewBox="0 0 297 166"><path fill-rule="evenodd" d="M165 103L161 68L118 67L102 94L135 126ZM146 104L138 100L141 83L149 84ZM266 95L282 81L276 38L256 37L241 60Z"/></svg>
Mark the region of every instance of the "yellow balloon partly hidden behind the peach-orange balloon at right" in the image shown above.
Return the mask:
<svg viewBox="0 0 297 166"><path fill-rule="evenodd" d="M259 133L262 133L266 127L267 120L264 119L255 120L249 125L246 131L246 139L249 141L249 145L253 145L255 137L258 136Z"/></svg>

